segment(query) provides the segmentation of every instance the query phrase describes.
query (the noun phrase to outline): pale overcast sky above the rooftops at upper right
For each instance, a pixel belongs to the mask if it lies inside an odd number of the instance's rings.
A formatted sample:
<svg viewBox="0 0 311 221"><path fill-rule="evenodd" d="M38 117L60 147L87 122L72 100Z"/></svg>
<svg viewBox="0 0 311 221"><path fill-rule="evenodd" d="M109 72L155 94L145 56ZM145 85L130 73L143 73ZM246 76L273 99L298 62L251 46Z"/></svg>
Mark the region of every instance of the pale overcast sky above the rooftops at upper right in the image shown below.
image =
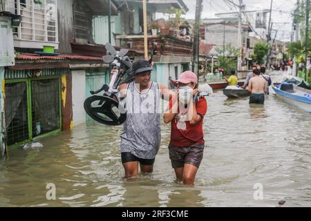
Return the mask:
<svg viewBox="0 0 311 221"><path fill-rule="evenodd" d="M194 19L196 14L196 0L184 0L189 8L187 19ZM238 4L238 0L233 0ZM245 10L264 10L270 9L270 0L243 0ZM272 3L272 22L274 29L278 30L276 39L290 41L292 32L292 17L290 13L295 8L296 0L273 0ZM236 8L225 3L225 0L203 0L202 19L214 18L214 14L223 12L236 12ZM281 11L280 11L281 10ZM267 16L267 22L269 15ZM284 22L288 22L285 24ZM274 35L272 35L274 36Z"/></svg>

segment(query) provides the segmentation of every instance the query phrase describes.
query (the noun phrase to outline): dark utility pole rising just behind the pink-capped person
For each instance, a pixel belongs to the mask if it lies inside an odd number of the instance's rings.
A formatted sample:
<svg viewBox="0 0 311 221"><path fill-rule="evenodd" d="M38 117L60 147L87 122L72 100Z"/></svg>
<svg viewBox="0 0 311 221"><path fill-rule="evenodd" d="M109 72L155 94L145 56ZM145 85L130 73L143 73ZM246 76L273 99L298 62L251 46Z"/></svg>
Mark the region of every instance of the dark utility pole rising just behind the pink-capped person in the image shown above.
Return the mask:
<svg viewBox="0 0 311 221"><path fill-rule="evenodd" d="M196 21L194 23L194 44L193 44L193 61L192 71L198 75L199 61L199 41L200 41L200 18L202 10L202 0L196 0Z"/></svg>

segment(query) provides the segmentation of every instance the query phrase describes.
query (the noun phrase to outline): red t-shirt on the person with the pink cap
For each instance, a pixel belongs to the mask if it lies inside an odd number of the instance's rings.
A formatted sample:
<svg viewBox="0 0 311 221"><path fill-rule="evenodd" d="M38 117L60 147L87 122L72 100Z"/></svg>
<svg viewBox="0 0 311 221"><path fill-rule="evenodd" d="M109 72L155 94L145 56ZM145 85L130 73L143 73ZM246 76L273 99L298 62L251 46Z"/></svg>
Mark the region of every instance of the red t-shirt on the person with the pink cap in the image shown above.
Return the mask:
<svg viewBox="0 0 311 221"><path fill-rule="evenodd" d="M172 101L169 102L169 106L171 108ZM196 143L204 144L203 117L207 113L207 102L204 97L200 97L198 102L196 102L196 112L201 116L200 122L194 125L191 125L189 121L185 122L185 131L177 128L176 117L171 121L171 145L184 147Z"/></svg>

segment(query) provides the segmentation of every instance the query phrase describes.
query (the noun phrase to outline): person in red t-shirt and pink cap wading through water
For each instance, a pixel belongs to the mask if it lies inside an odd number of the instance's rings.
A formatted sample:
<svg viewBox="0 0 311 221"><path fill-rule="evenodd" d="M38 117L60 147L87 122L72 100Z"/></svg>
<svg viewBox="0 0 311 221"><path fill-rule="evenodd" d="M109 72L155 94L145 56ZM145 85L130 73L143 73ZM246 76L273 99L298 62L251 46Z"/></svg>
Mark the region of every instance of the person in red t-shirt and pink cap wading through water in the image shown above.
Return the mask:
<svg viewBox="0 0 311 221"><path fill-rule="evenodd" d="M171 122L171 166L178 180L193 186L205 146L203 118L207 113L207 101L204 97L193 99L198 93L195 73L185 71L177 82L178 92L170 100L163 119L166 124Z"/></svg>

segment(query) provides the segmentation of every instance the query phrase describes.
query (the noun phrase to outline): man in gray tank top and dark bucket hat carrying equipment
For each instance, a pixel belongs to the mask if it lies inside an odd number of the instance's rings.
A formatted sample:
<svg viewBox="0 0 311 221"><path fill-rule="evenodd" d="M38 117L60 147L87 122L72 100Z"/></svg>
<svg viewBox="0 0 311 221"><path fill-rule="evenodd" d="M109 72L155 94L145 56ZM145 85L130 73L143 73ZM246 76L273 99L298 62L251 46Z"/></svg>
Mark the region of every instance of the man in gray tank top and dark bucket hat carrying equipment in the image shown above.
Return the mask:
<svg viewBox="0 0 311 221"><path fill-rule="evenodd" d="M120 99L125 99L126 121L121 134L121 159L125 178L151 173L160 147L160 97L169 100L173 95L151 80L151 66L140 59L133 62L134 81L119 87ZM111 70L111 76L116 70Z"/></svg>

